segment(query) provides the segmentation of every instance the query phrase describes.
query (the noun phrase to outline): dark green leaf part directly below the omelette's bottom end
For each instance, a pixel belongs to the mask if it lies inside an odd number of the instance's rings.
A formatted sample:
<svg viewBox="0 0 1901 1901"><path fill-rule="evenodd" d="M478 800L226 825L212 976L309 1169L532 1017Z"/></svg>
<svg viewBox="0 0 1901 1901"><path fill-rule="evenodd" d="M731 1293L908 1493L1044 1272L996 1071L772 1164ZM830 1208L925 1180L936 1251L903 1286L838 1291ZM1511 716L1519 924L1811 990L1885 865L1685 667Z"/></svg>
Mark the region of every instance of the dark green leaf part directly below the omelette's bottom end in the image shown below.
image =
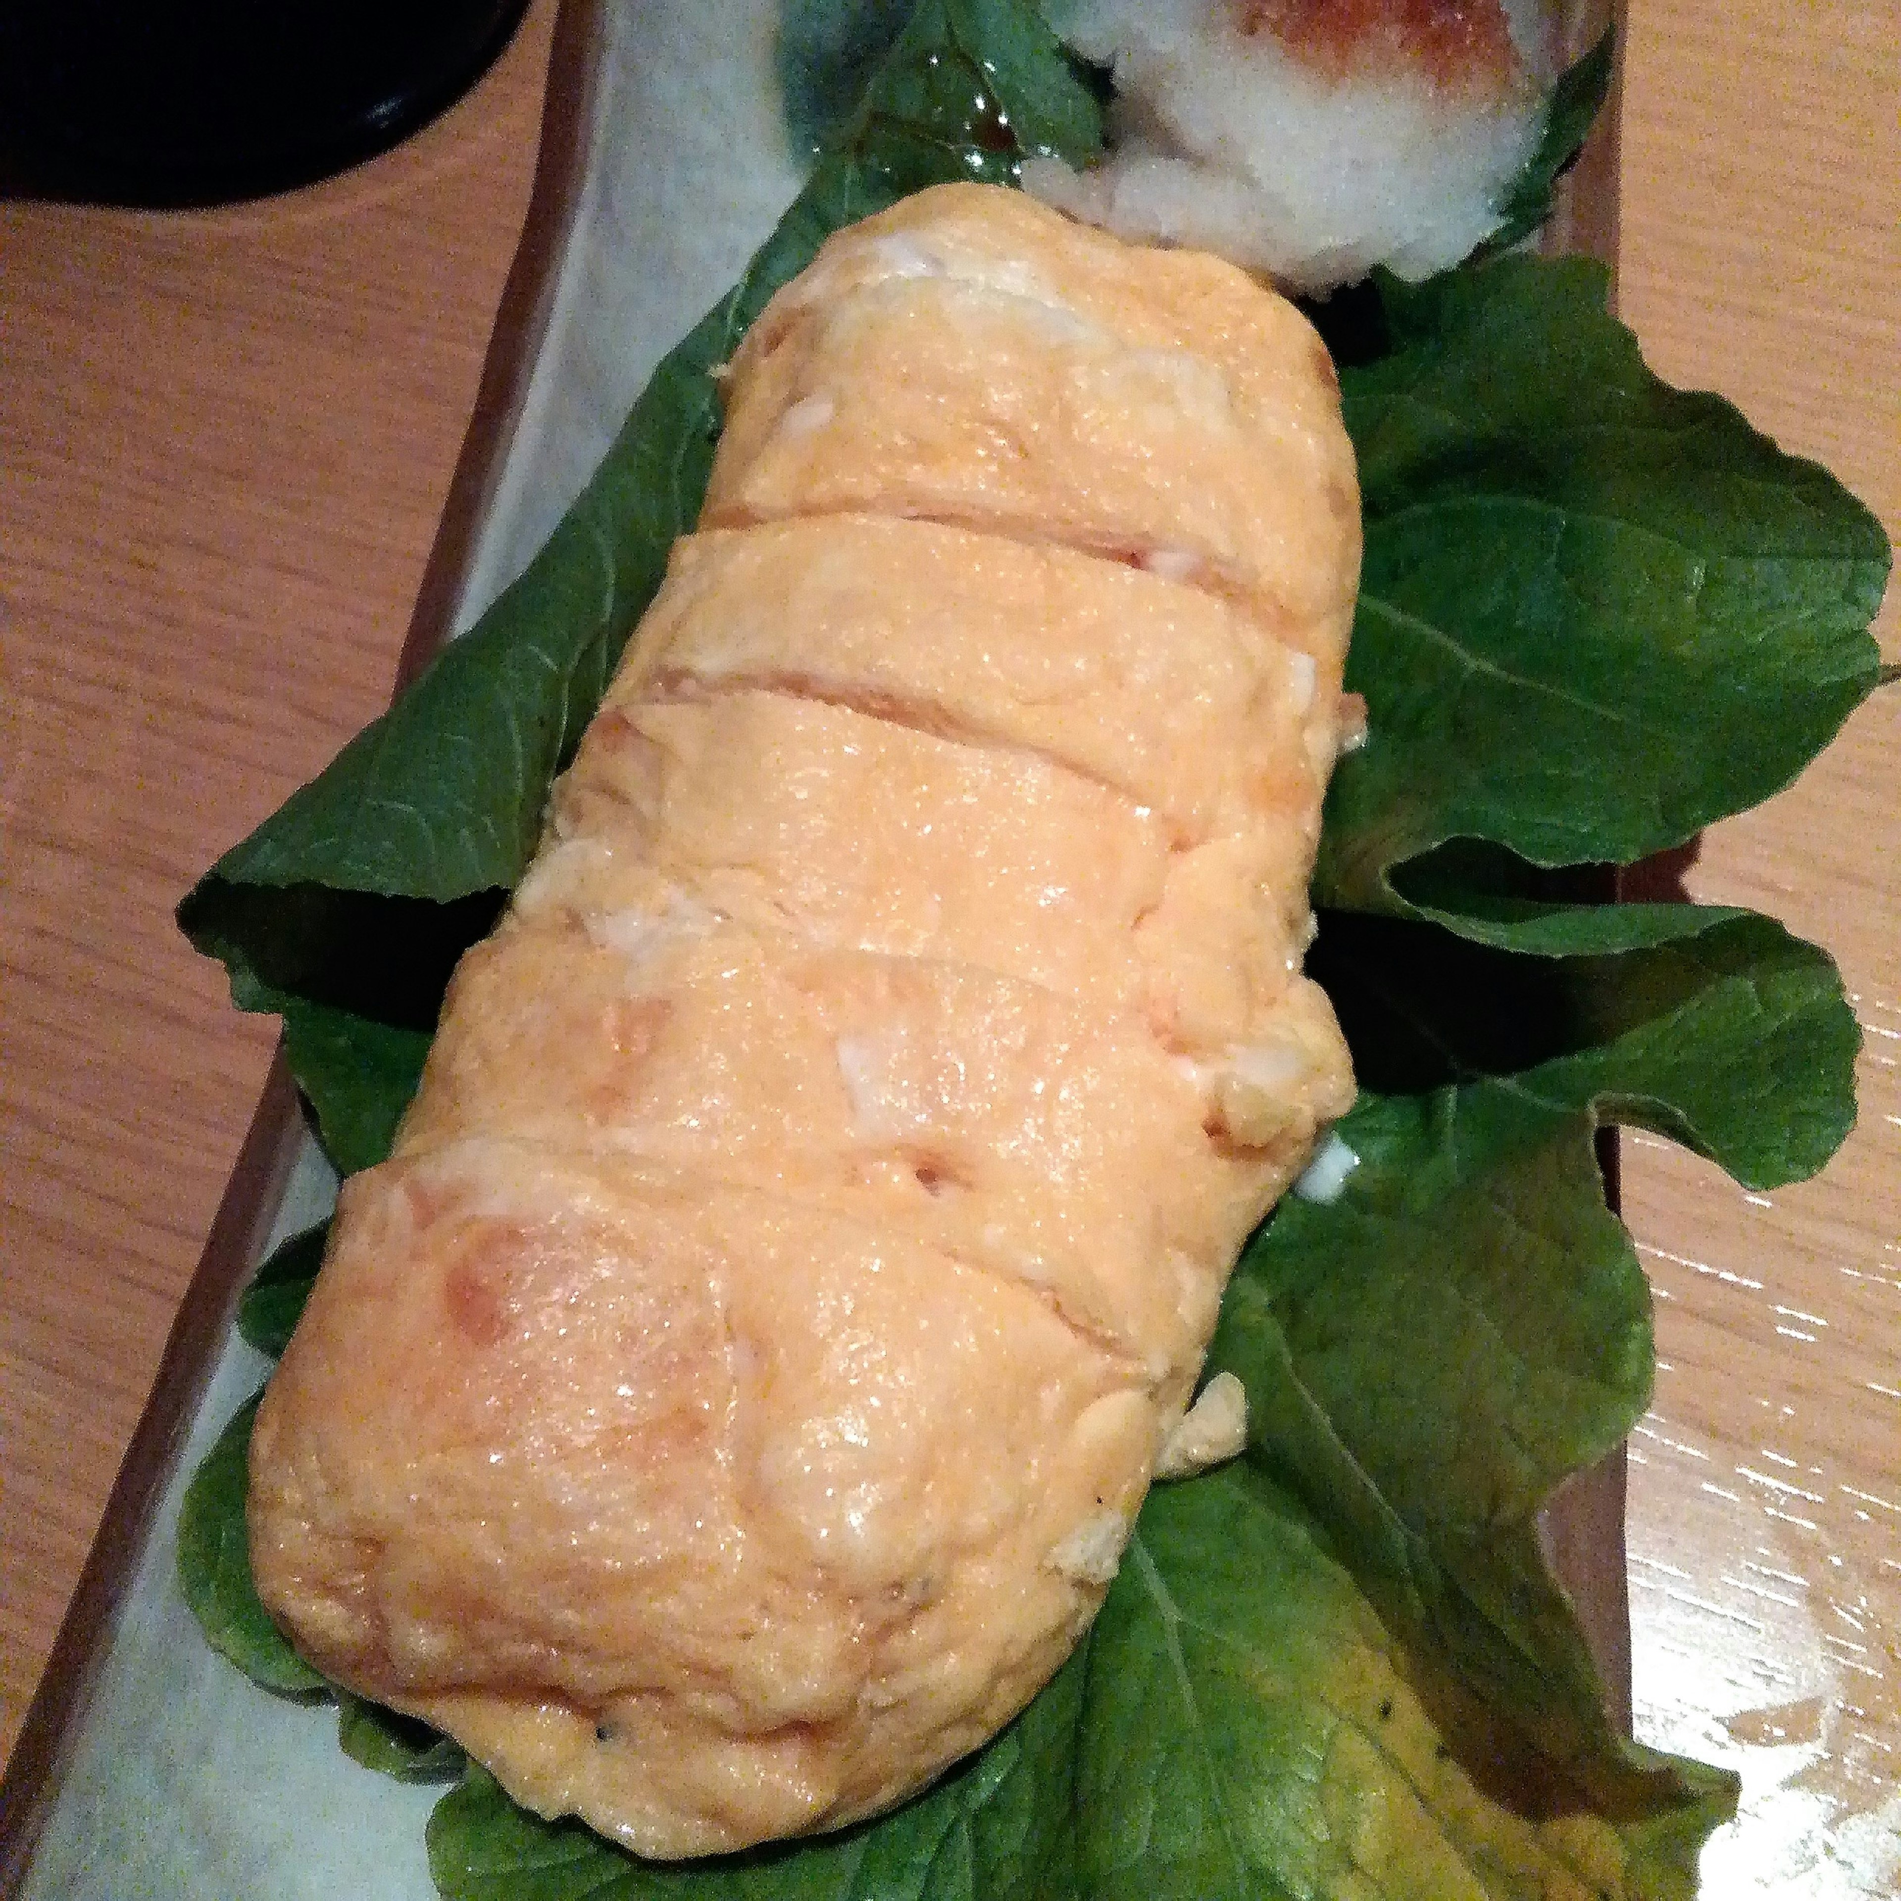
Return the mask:
<svg viewBox="0 0 1901 1901"><path fill-rule="evenodd" d="M447 1901L1068 1901L1085 1679L1078 1654L989 1747L880 1821L711 1861L639 1861L471 1768L430 1815L430 1872Z"/></svg>

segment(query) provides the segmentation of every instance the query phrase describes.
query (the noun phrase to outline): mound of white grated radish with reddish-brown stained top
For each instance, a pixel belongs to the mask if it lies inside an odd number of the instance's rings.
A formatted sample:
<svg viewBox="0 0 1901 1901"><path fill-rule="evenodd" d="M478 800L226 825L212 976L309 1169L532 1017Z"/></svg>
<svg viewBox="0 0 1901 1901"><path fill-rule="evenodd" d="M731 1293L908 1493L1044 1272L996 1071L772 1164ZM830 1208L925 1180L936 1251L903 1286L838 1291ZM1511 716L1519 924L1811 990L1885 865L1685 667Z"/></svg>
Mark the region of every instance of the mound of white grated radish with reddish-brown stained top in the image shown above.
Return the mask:
<svg viewBox="0 0 1901 1901"><path fill-rule="evenodd" d="M1110 67L1110 152L1023 184L1125 238L1219 251L1289 291L1420 279L1502 221L1544 127L1542 0L1055 0Z"/></svg>

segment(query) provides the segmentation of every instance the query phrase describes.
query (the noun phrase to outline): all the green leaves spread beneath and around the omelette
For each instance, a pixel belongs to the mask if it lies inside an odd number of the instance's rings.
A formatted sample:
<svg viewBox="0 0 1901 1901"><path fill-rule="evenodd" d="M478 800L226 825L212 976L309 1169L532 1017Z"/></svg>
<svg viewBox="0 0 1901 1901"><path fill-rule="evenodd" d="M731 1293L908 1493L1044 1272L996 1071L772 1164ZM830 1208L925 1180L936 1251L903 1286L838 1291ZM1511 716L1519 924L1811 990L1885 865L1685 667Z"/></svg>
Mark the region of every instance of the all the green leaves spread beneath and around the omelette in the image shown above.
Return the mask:
<svg viewBox="0 0 1901 1901"><path fill-rule="evenodd" d="M926 0L544 555L181 907L238 1000L285 1013L344 1167L386 1152L454 950L698 513L713 367L833 228L1027 150L1082 162L1097 114L1027 0ZM1078 1656L897 1814L658 1867L470 1766L430 1823L454 1901L1692 1891L1732 1783L1612 1732L1536 1538L1650 1382L1591 1139L1639 1122L1747 1182L1808 1173L1852 1118L1855 1030L1774 924L1580 905L1549 869L1656 850L1798 770L1874 679L1886 547L1819 470L1650 378L1585 266L1369 295L1384 340L1342 384L1373 739L1329 802L1312 964L1363 1084L1359 1165L1335 1203L1287 1203L1230 1289L1215 1363L1249 1388L1245 1460L1150 1498ZM247 1295L266 1350L319 1245ZM308 1692L249 1578L253 1412L192 1485L181 1572L221 1650ZM340 1724L394 1774L454 1760L369 1705Z"/></svg>

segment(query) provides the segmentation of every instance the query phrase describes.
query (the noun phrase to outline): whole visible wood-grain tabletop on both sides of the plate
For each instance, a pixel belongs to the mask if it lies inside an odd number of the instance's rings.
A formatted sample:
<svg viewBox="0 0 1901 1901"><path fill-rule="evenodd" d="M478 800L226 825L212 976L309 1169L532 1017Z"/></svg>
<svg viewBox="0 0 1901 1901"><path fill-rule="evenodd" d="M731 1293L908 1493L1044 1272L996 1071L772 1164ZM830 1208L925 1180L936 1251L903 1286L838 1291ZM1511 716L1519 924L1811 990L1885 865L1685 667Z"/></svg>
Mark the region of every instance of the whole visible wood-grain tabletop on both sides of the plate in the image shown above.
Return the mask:
<svg viewBox="0 0 1901 1901"><path fill-rule="evenodd" d="M1893 10L1633 11L1625 316L1893 528ZM270 1057L171 907L388 696L551 29L538 0L447 118L293 198L0 209L0 1749ZM1692 874L1842 962L1869 1032L1850 1146L1774 1198L1661 1144L1627 1162L1663 1361L1631 1498L1641 1719L1745 1768L1751 1880L1815 1901L1891 1891L1853 1857L1901 1806L1897 758L1891 694ZM1776 1876L1823 1838L1819 1874Z"/></svg>

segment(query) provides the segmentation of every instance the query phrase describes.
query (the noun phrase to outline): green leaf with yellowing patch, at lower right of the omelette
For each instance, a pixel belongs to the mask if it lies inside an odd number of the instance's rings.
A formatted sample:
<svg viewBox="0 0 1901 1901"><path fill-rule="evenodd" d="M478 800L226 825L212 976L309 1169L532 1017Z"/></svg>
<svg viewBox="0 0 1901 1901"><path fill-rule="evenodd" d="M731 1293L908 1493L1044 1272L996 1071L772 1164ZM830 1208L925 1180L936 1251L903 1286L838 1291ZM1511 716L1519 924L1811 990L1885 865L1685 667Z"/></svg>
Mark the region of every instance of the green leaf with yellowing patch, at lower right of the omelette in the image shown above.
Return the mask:
<svg viewBox="0 0 1901 1901"><path fill-rule="evenodd" d="M1089 1901L1688 1901L1726 1777L1616 1817L1401 1650L1260 1454L1154 1492L1091 1637Z"/></svg>

